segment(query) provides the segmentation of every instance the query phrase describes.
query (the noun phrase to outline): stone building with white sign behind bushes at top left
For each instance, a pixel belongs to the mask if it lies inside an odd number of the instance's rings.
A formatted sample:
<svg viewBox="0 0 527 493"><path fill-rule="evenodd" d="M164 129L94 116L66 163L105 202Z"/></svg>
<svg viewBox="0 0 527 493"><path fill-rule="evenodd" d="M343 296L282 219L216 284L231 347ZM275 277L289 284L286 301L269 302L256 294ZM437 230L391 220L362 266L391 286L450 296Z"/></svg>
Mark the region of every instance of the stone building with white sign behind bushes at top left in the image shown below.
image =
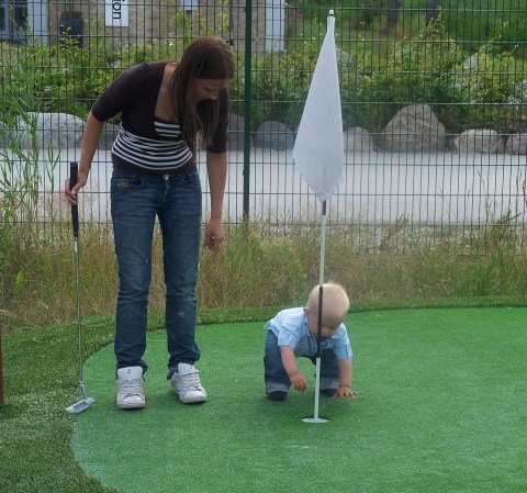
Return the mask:
<svg viewBox="0 0 527 493"><path fill-rule="evenodd" d="M184 12L193 36L214 34L244 49L245 5L242 0L0 0L0 40L19 43L31 35L48 44L67 33L82 45L97 23L109 42L149 42L177 37L175 19ZM253 0L254 51L283 49L288 11L284 0Z"/></svg>

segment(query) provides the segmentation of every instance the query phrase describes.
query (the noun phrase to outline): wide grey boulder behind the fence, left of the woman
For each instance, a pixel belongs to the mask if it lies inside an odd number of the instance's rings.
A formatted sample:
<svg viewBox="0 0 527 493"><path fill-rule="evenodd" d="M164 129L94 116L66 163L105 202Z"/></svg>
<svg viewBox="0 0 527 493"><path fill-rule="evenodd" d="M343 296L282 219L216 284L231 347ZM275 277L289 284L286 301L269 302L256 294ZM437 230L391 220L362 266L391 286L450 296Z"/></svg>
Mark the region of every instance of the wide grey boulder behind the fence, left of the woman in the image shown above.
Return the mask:
<svg viewBox="0 0 527 493"><path fill-rule="evenodd" d="M22 148L33 146L33 127L41 149L60 149L80 146L85 122L67 113L27 113L18 116L13 137Z"/></svg>

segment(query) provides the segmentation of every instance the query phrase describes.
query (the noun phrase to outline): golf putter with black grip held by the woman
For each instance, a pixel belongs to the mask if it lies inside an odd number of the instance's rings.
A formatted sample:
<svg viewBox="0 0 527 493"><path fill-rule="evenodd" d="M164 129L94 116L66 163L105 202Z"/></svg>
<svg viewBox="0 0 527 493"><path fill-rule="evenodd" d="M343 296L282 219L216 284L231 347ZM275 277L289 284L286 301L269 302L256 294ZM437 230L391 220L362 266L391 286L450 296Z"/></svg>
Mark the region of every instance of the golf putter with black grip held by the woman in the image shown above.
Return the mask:
<svg viewBox="0 0 527 493"><path fill-rule="evenodd" d="M69 189L71 190L77 184L78 163L69 164ZM77 201L78 201L77 195ZM77 205L71 205L71 222L74 225L74 253L75 253L75 273L77 284L77 335L79 345L79 388L82 393L82 399L66 411L69 414L79 414L82 411L92 406L94 400L89 397L86 393L85 381L82 379L82 321L80 316L80 265L79 265L79 210Z"/></svg>

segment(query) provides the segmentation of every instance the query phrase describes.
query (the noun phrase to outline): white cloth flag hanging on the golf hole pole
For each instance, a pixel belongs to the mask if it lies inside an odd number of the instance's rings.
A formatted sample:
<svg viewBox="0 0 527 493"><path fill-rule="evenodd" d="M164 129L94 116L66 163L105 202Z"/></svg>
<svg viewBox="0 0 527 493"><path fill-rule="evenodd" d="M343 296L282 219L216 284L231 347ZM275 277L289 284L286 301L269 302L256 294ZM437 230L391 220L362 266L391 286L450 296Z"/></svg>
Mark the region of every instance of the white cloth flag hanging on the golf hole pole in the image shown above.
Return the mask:
<svg viewBox="0 0 527 493"><path fill-rule="evenodd" d="M336 192L344 167L344 138L333 15L327 18L327 33L305 101L293 158L322 202Z"/></svg>

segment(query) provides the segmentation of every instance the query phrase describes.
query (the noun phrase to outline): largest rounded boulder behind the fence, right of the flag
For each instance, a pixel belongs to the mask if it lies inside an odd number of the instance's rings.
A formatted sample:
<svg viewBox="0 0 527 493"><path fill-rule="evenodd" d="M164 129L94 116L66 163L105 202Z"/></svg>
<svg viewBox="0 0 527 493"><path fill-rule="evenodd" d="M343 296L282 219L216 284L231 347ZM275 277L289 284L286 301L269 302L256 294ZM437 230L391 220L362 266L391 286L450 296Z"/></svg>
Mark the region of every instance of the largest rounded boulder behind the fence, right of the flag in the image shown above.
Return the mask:
<svg viewBox="0 0 527 493"><path fill-rule="evenodd" d="M382 131L384 150L429 153L445 148L445 125L428 104L400 110Z"/></svg>

